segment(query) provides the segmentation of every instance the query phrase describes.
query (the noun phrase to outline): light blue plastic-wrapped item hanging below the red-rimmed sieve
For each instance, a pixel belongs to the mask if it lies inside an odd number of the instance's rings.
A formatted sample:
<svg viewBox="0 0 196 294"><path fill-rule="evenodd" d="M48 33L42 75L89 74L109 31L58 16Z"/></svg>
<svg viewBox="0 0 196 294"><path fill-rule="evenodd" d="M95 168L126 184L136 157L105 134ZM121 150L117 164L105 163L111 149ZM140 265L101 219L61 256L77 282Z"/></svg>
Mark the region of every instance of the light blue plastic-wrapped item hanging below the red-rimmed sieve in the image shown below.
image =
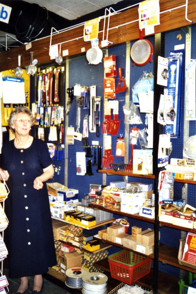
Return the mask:
<svg viewBox="0 0 196 294"><path fill-rule="evenodd" d="M153 73L144 72L139 80L132 87L132 99L136 105L139 105L138 93L147 93L147 90L154 89L154 75Z"/></svg>

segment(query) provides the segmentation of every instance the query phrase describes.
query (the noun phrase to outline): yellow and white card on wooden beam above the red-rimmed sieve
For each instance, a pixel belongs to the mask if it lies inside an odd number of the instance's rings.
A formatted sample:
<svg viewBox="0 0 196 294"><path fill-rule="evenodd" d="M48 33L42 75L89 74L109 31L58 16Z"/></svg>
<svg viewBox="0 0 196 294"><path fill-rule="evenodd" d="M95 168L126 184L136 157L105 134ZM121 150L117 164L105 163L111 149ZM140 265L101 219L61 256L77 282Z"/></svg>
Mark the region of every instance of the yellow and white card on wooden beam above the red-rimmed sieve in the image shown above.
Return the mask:
<svg viewBox="0 0 196 294"><path fill-rule="evenodd" d="M140 29L150 25L160 25L159 0L146 0L140 2L138 12Z"/></svg>

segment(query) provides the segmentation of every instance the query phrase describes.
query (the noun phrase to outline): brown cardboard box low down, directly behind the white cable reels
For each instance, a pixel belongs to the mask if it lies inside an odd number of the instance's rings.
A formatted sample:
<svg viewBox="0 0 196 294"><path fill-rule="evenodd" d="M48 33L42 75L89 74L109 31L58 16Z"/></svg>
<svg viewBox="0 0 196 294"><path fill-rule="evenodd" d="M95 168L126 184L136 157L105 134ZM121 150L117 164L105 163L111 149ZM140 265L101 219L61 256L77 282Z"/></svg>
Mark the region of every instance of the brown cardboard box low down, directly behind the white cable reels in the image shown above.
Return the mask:
<svg viewBox="0 0 196 294"><path fill-rule="evenodd" d="M60 273L65 276L66 270L70 268L75 268L75 267L80 268L81 260L82 260L82 257L77 251L61 254L60 255Z"/></svg>

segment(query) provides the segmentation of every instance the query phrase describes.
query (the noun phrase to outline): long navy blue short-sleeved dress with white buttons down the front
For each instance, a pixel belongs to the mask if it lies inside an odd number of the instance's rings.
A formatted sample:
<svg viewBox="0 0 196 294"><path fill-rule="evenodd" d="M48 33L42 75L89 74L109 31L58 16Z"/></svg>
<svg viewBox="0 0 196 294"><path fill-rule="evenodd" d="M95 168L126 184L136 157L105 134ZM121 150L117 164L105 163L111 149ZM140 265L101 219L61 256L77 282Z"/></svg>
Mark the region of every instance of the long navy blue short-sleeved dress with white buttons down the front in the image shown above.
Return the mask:
<svg viewBox="0 0 196 294"><path fill-rule="evenodd" d="M36 138L26 149L17 149L14 140L2 148L1 168L10 175L6 212L11 278L43 274L56 265L47 186L44 182L43 189L33 188L51 163L47 144Z"/></svg>

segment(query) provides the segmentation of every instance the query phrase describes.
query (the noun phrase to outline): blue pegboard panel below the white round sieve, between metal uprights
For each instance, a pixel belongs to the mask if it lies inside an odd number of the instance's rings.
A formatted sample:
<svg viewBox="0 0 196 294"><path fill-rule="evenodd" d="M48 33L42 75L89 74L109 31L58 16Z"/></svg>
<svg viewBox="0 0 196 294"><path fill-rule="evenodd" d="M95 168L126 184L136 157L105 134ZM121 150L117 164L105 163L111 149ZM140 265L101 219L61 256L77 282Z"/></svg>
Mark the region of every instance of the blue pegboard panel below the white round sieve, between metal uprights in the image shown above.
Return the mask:
<svg viewBox="0 0 196 294"><path fill-rule="evenodd" d="M99 126L99 137L96 137L96 133L89 132L88 143L92 146L92 141L99 141L99 145L103 146L103 135L101 134L101 124L103 121L103 62L98 65L90 65L86 60L86 56L79 56L71 58L69 60L69 87L74 87L75 84L80 86L93 86L96 85L96 95L101 96L101 118ZM80 133L82 133L83 119L85 115L89 114L88 109L81 109L81 122ZM73 104L69 113L69 126L74 126L76 130L76 100L73 99ZM91 176L76 175L76 152L84 152L82 147L82 141L74 140L74 145L68 145L68 187L79 190L79 200L84 197L85 193L89 193L90 184L102 184L102 174L96 172L97 167L92 166ZM94 149L92 149L94 154ZM98 153L97 153L98 157ZM86 158L87 160L88 158ZM92 163L93 163L93 157Z"/></svg>

